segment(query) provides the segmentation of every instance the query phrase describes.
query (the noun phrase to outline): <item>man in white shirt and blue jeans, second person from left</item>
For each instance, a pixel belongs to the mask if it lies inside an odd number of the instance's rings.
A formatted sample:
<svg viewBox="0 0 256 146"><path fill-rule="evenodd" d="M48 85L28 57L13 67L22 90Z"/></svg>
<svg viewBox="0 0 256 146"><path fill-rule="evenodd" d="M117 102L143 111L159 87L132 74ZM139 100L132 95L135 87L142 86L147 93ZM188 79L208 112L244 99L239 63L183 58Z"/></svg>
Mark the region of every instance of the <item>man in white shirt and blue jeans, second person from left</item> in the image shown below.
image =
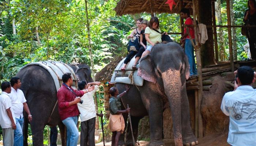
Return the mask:
<svg viewBox="0 0 256 146"><path fill-rule="evenodd" d="M11 78L11 93L10 98L12 102L12 108L14 110L14 116L16 120L16 130L14 131L14 146L23 146L23 108L28 114L29 122L32 120L29 107L27 106L25 96L19 89L21 86L20 79L18 77Z"/></svg>

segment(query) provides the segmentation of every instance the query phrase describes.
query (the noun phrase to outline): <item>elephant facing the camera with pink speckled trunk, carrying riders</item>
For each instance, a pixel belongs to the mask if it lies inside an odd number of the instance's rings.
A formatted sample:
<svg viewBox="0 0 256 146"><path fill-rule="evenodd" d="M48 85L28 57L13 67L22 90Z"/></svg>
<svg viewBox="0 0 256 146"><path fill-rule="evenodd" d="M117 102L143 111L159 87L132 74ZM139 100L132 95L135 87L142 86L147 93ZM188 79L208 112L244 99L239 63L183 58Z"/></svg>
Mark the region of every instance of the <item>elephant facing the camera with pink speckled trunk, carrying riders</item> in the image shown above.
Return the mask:
<svg viewBox="0 0 256 146"><path fill-rule="evenodd" d="M150 121L150 146L164 145L163 108L169 103L174 129L175 146L197 145L198 141L190 124L186 79L189 77L188 58L180 45L174 42L155 45L150 54L143 57L138 75L144 79L143 86L131 85L126 95L121 97L123 109L129 104L135 141L138 137L138 123L148 115ZM125 90L123 83L115 85ZM125 120L127 115L124 115ZM126 127L126 126L125 126ZM120 137L119 145L132 145L130 125ZM124 141L125 137L125 141Z"/></svg>

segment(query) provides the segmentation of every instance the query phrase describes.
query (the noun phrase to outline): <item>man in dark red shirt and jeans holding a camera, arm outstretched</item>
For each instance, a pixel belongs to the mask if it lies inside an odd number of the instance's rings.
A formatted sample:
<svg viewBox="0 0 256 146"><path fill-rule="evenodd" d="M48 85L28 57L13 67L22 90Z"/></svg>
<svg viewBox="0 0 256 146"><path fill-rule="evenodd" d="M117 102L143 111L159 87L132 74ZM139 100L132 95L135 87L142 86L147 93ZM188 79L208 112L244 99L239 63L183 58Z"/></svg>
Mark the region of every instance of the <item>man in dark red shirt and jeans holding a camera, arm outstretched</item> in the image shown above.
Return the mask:
<svg viewBox="0 0 256 146"><path fill-rule="evenodd" d="M57 93L59 115L63 124L67 127L67 146L76 146L79 138L76 124L78 122L78 115L80 114L77 103L82 103L80 97L85 93L93 91L94 86L89 86L87 89L81 91L74 90L71 87L73 84L71 73L63 74L62 81L63 84Z"/></svg>

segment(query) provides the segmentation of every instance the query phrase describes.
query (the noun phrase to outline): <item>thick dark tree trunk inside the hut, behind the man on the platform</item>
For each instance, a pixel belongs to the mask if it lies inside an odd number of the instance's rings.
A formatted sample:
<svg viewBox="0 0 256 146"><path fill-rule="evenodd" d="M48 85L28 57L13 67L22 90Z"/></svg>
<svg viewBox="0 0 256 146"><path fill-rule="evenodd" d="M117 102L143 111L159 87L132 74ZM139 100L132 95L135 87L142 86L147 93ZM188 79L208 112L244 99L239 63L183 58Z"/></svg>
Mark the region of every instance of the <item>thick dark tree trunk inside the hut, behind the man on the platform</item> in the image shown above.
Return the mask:
<svg viewBox="0 0 256 146"><path fill-rule="evenodd" d="M212 25L212 12L211 12L211 1L210 0L198 0L197 3L198 20L199 23L206 25ZM215 62L214 55L214 39L213 29L207 28L208 40L205 44L200 47L202 66L213 65Z"/></svg>

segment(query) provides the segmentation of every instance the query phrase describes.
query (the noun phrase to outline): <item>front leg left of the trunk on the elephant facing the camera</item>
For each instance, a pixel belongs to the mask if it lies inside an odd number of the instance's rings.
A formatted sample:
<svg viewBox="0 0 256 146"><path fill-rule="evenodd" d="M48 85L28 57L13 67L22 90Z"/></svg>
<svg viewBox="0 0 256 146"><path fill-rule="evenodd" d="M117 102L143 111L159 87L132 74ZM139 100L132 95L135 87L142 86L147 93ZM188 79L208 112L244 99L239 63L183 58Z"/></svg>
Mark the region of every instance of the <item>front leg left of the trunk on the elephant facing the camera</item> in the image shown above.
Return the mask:
<svg viewBox="0 0 256 146"><path fill-rule="evenodd" d="M152 83L153 84L153 83ZM152 89L152 88L151 88ZM140 90L142 101L149 115L150 123L150 144L149 146L164 145L162 139L163 102L162 98L147 89Z"/></svg>

